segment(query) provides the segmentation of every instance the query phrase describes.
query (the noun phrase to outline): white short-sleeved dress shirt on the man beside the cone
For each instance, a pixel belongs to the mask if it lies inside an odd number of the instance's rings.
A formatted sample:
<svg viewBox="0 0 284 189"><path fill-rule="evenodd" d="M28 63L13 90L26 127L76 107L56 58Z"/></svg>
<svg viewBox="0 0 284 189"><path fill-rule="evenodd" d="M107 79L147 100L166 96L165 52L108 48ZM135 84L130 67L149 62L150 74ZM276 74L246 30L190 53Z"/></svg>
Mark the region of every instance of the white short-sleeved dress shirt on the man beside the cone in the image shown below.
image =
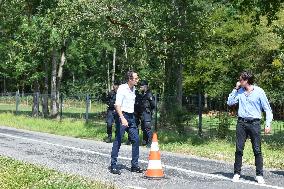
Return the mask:
<svg viewBox="0 0 284 189"><path fill-rule="evenodd" d="M122 84L117 89L115 105L120 106L123 112L133 113L135 97L135 87L131 90L127 83Z"/></svg>

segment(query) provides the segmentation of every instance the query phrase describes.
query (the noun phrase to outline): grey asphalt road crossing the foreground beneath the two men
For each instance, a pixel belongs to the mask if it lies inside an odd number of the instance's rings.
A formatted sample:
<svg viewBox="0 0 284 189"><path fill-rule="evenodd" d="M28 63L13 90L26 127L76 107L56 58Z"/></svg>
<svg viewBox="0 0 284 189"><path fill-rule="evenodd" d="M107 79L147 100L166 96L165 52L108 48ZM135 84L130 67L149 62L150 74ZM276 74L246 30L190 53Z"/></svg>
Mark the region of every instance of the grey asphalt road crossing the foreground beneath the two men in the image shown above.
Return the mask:
<svg viewBox="0 0 284 189"><path fill-rule="evenodd" d="M233 183L233 165L221 161L161 151L165 178L148 180L130 172L131 146L120 150L121 175L109 172L112 144L0 127L0 155L43 165L61 172L113 183L120 188L149 189L284 189L284 170L265 170L266 184L254 180L254 167L244 166L238 183ZM141 167L147 168L149 149L140 148ZM253 158L253 157L252 157ZM283 160L284 161L284 160Z"/></svg>

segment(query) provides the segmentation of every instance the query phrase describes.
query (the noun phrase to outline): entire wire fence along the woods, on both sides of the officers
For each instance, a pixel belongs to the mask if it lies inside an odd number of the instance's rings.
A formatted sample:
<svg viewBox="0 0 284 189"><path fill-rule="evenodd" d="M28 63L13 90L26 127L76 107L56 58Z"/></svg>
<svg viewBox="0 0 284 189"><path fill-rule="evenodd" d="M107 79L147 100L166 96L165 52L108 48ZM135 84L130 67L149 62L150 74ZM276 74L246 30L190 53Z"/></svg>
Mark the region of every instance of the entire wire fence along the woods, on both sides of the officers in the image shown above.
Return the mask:
<svg viewBox="0 0 284 189"><path fill-rule="evenodd" d="M39 93L0 94L0 113L12 112L16 115L50 117L51 95ZM158 97L153 125L157 128L176 129L199 135L226 137L236 127L237 107L226 104L227 97L211 98L204 95L183 97L182 101L174 97ZM44 111L47 101L49 112ZM35 105L35 102L37 103ZM57 99L57 117L59 119L82 119L86 122L103 124L107 105L103 99L93 96L60 96ZM182 106L175 106L182 104ZM35 108L36 107L36 108ZM272 134L284 133L284 104L271 104L274 114ZM45 113L44 113L45 112ZM45 115L45 114L48 115ZM262 119L264 124L264 119Z"/></svg>

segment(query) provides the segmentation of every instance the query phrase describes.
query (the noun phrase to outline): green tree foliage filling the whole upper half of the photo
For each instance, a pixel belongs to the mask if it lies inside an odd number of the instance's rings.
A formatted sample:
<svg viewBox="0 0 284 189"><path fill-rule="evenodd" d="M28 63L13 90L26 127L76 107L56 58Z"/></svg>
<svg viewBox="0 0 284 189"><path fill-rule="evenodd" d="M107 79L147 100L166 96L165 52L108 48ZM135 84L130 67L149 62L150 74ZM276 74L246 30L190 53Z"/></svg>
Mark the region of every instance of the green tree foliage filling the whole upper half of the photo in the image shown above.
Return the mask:
<svg viewBox="0 0 284 189"><path fill-rule="evenodd" d="M11 0L0 9L0 82L10 91L42 90L53 49L66 46L65 94L104 93L115 48L116 80L134 69L165 96L225 95L251 69L283 101L282 0Z"/></svg>

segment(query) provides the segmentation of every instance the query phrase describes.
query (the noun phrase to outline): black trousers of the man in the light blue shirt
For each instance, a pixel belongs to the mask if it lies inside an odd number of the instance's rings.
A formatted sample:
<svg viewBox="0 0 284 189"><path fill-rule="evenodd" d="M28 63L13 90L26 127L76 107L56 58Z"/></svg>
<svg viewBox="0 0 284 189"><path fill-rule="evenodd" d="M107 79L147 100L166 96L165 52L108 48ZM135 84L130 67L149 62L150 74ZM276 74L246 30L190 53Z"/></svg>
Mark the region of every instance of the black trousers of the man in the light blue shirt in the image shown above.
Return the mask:
<svg viewBox="0 0 284 189"><path fill-rule="evenodd" d="M260 120L238 119L236 129L236 152L234 173L240 174L242 167L242 157L247 137L250 137L252 150L255 157L256 175L263 175L263 157L261 152L261 126Z"/></svg>

